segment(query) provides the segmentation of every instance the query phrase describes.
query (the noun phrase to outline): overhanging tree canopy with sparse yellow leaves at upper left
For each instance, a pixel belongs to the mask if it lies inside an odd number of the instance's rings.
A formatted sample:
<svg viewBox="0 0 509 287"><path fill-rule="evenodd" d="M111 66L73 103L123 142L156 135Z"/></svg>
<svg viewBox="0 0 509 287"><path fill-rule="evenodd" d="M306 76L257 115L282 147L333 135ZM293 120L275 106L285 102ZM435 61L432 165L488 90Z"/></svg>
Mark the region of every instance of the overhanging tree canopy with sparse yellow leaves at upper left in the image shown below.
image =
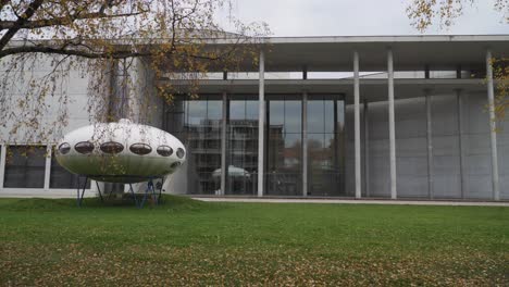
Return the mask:
<svg viewBox="0 0 509 287"><path fill-rule="evenodd" d="M268 34L266 25L244 24L232 15L228 28L233 30L226 32L219 24L218 11L228 7L229 0L1 0L2 137L52 141L69 121L69 105L74 104L62 88L72 84L73 71L89 78L89 99L83 109L91 121L114 121L112 110L122 110L133 100L142 107L137 109L138 116L144 109L148 114L154 105L153 93L167 102L175 92L193 95L196 79L212 64L235 68L253 52L249 50L252 45L243 43ZM234 45L206 49L208 41L218 38ZM38 73L41 62L50 71ZM137 65L150 74L131 73ZM186 90L166 83L154 91L154 79L176 74L188 79ZM111 84L119 75L121 87L115 87ZM110 97L114 93L122 95ZM138 98L133 99L134 93ZM50 107L55 102L57 108ZM122 113L129 117L133 111L127 110Z"/></svg>

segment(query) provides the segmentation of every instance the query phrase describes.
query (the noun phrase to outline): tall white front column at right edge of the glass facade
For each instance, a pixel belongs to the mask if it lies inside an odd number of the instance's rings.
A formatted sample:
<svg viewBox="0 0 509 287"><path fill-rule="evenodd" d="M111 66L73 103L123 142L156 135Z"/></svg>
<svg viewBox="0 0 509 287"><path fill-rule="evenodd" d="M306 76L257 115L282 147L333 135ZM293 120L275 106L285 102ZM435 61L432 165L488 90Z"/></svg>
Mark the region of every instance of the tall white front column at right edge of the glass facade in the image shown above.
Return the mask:
<svg viewBox="0 0 509 287"><path fill-rule="evenodd" d="M361 148L360 148L360 79L359 52L353 52L353 110L355 110L355 154L356 154L356 198L361 198Z"/></svg>

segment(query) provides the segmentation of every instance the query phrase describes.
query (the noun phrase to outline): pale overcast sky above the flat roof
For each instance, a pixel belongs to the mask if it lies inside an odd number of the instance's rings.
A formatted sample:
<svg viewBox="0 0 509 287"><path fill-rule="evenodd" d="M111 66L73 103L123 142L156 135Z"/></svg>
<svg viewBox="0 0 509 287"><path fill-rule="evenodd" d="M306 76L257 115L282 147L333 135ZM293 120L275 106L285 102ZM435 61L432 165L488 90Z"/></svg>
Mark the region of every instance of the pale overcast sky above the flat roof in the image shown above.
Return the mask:
<svg viewBox="0 0 509 287"><path fill-rule="evenodd" d="M406 15L409 0L234 0L233 15L265 22L272 36L348 36L419 34ZM509 34L494 0L477 0L448 29L425 34Z"/></svg>

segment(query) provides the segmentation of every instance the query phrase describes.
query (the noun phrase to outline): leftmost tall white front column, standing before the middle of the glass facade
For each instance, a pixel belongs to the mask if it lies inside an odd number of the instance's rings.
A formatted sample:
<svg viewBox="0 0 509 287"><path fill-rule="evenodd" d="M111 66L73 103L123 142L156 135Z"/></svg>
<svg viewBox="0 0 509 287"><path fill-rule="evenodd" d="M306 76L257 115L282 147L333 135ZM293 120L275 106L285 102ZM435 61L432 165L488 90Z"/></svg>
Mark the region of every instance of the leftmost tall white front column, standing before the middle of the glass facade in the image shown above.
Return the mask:
<svg viewBox="0 0 509 287"><path fill-rule="evenodd" d="M260 50L260 75L259 75L259 91L258 91L258 196L263 196L263 167L264 167L264 140L263 128L265 125L265 55L263 50Z"/></svg>

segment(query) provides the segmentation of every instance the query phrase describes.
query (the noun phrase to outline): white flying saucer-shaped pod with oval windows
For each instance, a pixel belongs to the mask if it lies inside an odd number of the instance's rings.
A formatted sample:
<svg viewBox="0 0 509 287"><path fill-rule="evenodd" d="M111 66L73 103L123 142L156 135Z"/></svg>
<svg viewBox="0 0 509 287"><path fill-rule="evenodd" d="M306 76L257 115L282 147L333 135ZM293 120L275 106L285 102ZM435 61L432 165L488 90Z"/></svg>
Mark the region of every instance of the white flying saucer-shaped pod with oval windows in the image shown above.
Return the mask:
<svg viewBox="0 0 509 287"><path fill-rule="evenodd" d="M69 133L59 141L55 157L71 173L133 184L174 173L185 162L186 149L164 130L121 120Z"/></svg>

